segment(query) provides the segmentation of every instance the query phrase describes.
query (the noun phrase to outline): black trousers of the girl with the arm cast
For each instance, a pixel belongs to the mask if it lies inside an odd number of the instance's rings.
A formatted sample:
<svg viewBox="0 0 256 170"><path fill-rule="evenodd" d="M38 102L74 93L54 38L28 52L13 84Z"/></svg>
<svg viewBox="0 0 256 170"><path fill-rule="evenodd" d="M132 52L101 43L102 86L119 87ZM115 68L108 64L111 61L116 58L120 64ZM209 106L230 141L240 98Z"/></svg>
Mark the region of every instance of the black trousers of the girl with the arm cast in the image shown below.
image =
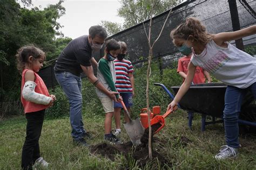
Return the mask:
<svg viewBox="0 0 256 170"><path fill-rule="evenodd" d="M32 165L40 157L39 138L44 122L44 111L26 113L26 139L22 148L22 169L32 169Z"/></svg>

